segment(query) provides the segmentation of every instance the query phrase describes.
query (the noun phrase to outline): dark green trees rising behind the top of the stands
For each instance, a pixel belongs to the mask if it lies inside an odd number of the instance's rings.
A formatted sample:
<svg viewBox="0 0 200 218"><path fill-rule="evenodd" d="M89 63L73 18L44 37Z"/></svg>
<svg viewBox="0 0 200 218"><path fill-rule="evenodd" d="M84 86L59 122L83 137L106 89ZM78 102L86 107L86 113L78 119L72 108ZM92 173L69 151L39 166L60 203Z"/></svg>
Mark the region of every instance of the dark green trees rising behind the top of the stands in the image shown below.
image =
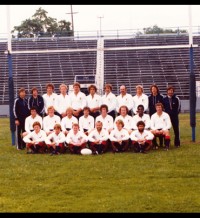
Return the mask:
<svg viewBox="0 0 200 218"><path fill-rule="evenodd" d="M52 36L73 36L74 32L71 28L71 22L66 20L57 21L56 18L49 17L48 12L41 7L36 10L32 18L21 22L21 25L14 26L11 33L17 32L18 38L33 37L52 37ZM142 34L163 34L163 33L187 33L187 30L179 28L163 29L154 25L153 27L143 28L143 33L138 31L137 35ZM14 35L12 35L15 38Z"/></svg>

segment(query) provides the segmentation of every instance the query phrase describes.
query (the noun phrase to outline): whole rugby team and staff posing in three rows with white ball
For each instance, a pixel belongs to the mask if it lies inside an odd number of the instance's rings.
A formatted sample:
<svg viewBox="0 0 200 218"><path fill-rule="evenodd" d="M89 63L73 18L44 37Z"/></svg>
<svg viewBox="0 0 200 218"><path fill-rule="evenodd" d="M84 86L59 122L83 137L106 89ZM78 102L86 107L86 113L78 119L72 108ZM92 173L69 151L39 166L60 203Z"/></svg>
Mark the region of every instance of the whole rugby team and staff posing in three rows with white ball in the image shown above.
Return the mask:
<svg viewBox="0 0 200 218"><path fill-rule="evenodd" d="M52 83L42 95L37 87L31 89L30 96L25 88L19 89L13 107L18 150L26 149L27 154L100 155L146 154L180 147L181 102L172 86L160 93L153 84L146 94L142 85L137 85L135 95L131 95L121 85L119 95L115 95L112 84L105 84L101 96L95 85L85 94L75 82L72 92L68 93L66 84L60 84L59 91L55 93Z"/></svg>

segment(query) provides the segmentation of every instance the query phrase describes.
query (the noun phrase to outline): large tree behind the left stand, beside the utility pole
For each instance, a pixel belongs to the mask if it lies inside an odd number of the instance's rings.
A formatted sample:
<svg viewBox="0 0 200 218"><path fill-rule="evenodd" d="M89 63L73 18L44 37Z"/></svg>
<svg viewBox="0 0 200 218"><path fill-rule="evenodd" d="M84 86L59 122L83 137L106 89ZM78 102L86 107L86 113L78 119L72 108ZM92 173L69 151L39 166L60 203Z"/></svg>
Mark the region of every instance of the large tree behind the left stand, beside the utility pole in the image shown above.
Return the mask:
<svg viewBox="0 0 200 218"><path fill-rule="evenodd" d="M72 36L73 32L70 30L70 22L61 20L57 22L56 18L48 17L48 12L41 7L36 10L32 19L22 21L21 25L14 26L11 33L17 31L17 36L20 38L30 38L34 36Z"/></svg>

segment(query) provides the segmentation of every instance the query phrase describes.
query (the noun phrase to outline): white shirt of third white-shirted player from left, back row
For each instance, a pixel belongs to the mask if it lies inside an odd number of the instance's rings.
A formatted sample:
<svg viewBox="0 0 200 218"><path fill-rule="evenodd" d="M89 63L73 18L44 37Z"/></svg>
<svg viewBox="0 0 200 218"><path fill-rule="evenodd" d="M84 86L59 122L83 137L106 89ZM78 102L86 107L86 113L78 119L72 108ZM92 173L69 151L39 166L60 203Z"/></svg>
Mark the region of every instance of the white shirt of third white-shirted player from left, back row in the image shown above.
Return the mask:
<svg viewBox="0 0 200 218"><path fill-rule="evenodd" d="M78 110L79 108L83 109L86 106L86 95L83 92L78 92L77 95L74 92L69 94L71 98L71 106L74 110Z"/></svg>

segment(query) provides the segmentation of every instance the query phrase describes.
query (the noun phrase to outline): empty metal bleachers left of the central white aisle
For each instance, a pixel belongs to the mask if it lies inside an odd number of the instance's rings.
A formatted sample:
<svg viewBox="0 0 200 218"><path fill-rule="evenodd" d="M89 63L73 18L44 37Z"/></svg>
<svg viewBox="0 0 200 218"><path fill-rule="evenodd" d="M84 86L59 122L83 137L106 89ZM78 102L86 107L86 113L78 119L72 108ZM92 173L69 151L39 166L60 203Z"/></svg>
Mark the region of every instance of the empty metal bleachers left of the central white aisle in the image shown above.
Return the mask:
<svg viewBox="0 0 200 218"><path fill-rule="evenodd" d="M96 40L69 40L68 38L39 38L12 41L13 51L56 50L96 48ZM4 51L7 43L0 42L0 71L4 77L0 82L0 104L8 104L8 60ZM46 92L45 86L51 82L59 92L61 83L72 84L77 74L87 75L96 71L96 52L52 52L22 53L12 55L12 73L15 97L20 87L28 93L33 86L38 87L40 94ZM2 88L4 87L4 88Z"/></svg>

